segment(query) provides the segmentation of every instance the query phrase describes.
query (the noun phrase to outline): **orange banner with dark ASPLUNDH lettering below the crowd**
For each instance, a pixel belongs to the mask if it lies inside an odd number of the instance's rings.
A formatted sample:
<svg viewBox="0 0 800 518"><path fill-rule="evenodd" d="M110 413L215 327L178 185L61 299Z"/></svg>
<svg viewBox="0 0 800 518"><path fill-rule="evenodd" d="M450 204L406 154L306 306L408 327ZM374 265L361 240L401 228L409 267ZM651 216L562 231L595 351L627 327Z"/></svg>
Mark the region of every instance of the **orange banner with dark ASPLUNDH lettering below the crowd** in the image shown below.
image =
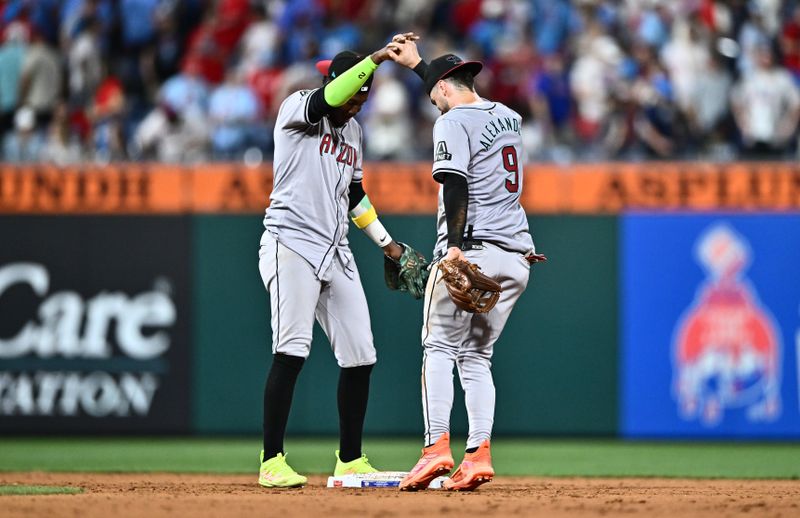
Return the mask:
<svg viewBox="0 0 800 518"><path fill-rule="evenodd" d="M367 163L364 176L379 213L436 212L439 184L429 163ZM270 165L0 164L0 213L258 213L271 187ZM800 211L800 165L529 164L521 201L529 213Z"/></svg>

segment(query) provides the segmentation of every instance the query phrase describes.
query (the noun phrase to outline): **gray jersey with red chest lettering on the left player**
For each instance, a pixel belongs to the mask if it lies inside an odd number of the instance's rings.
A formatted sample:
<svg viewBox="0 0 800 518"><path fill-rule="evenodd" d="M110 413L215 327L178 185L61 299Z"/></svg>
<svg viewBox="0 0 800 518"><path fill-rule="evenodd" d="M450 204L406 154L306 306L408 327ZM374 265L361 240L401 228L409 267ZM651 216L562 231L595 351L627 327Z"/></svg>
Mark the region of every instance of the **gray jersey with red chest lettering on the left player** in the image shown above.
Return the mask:
<svg viewBox="0 0 800 518"><path fill-rule="evenodd" d="M349 265L348 192L361 181L361 126L341 128L327 117L308 121L314 90L295 92L281 104L275 123L274 182L264 226L278 241L308 260L323 278L339 254ZM352 268L348 268L352 272Z"/></svg>

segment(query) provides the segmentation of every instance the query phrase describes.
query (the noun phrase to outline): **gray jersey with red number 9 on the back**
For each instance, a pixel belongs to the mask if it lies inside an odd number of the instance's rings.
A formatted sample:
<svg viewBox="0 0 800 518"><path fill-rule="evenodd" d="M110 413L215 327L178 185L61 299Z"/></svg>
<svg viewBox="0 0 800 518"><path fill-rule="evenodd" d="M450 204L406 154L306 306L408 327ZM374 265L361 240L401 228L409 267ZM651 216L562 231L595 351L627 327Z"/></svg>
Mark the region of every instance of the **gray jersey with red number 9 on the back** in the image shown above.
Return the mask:
<svg viewBox="0 0 800 518"><path fill-rule="evenodd" d="M433 127L433 177L464 176L469 185L467 229L475 239L520 253L533 250L522 194L522 117L501 103L456 106ZM438 239L434 255L447 247L443 189L439 189Z"/></svg>

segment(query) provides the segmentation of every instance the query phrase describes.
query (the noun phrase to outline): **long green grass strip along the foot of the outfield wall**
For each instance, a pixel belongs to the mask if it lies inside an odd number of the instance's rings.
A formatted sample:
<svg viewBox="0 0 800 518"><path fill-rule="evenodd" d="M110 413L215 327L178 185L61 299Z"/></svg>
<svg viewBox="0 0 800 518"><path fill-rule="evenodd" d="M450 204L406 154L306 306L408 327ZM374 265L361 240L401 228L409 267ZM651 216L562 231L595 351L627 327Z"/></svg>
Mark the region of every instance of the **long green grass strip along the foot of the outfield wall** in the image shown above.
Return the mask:
<svg viewBox="0 0 800 518"><path fill-rule="evenodd" d="M258 438L3 438L0 471L255 473ZM462 444L457 439L455 444ZM290 464L303 473L333 470L334 438L293 439ZM368 438L379 469L407 470L419 455L411 439ZM456 461L460 454L456 454ZM630 442L497 439L502 475L800 479L800 443Z"/></svg>

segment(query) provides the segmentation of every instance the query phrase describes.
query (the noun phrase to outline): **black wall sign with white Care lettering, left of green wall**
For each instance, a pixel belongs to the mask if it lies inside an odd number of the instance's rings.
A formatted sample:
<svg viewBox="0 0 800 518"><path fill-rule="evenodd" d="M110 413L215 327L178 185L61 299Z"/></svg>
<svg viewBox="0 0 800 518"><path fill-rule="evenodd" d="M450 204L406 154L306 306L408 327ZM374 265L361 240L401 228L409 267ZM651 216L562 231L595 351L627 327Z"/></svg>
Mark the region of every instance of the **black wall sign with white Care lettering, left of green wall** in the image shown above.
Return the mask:
<svg viewBox="0 0 800 518"><path fill-rule="evenodd" d="M0 431L186 428L188 280L173 219L17 219L34 237L0 250Z"/></svg>

